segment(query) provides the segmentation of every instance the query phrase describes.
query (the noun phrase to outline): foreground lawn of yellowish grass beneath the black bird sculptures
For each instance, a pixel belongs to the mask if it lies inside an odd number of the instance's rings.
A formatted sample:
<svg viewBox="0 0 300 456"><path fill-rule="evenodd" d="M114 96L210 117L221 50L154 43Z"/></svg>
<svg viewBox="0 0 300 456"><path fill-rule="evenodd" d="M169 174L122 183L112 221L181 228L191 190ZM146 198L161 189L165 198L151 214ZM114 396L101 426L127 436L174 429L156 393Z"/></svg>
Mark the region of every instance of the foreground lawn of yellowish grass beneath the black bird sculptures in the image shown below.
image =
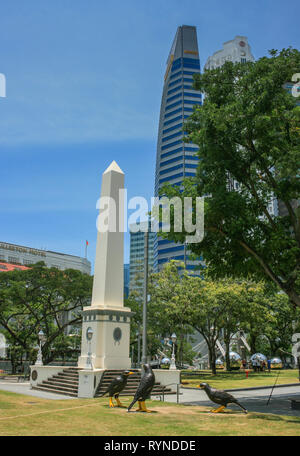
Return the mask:
<svg viewBox="0 0 300 456"><path fill-rule="evenodd" d="M128 406L131 397L122 397ZM45 400L0 391L0 436L295 436L300 418L147 401L153 413L109 409L108 399Z"/></svg>

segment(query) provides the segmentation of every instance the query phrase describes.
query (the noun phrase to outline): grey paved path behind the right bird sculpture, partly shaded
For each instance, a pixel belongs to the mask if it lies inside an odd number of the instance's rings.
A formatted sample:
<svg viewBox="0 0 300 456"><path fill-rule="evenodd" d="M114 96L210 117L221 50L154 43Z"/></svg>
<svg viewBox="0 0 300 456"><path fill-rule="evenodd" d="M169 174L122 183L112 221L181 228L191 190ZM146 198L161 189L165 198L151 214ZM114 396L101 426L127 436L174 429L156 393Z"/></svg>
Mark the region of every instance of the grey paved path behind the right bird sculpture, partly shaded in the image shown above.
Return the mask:
<svg viewBox="0 0 300 456"><path fill-rule="evenodd" d="M249 412L260 413L274 413L278 415L290 415L300 417L300 410L293 410L291 408L291 401L289 398L300 398L300 384L297 386L288 386L274 388L269 405L267 405L272 387L270 389L261 390L244 390L231 392L234 397L239 399L241 404L246 407ZM206 393L199 390L189 390L181 388L182 393L179 396L179 403L184 405L202 405L215 408L215 404L211 402ZM165 402L176 402L175 395L165 396ZM232 410L241 410L236 405L229 405L228 408ZM300 424L299 424L300 433Z"/></svg>

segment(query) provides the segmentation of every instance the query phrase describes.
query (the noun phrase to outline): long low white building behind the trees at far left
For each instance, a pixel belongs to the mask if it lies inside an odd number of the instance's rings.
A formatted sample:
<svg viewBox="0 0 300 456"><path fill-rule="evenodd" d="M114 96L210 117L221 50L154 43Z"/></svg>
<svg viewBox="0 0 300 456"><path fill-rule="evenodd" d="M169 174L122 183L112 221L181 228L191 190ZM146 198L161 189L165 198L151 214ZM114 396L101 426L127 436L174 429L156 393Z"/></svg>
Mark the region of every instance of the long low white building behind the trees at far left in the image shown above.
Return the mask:
<svg viewBox="0 0 300 456"><path fill-rule="evenodd" d="M76 269L85 274L91 273L91 263L86 258L0 241L0 263L30 266L38 261L43 261L49 268Z"/></svg>

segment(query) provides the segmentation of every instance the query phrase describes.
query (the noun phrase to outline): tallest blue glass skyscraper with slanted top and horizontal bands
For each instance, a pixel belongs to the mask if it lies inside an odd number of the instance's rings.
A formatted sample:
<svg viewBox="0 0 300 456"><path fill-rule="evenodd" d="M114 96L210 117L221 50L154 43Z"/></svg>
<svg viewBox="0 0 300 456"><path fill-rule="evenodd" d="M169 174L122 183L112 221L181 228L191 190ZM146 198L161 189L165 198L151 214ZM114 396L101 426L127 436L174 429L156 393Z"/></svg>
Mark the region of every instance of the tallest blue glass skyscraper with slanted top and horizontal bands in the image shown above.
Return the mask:
<svg viewBox="0 0 300 456"><path fill-rule="evenodd" d="M195 176L198 147L184 143L183 125L195 105L201 105L201 94L193 90L193 75L200 73L196 27L178 27L164 76L157 141L155 196L166 184L181 185L186 177ZM181 260L187 269L199 262L189 261L186 245L155 237L154 268L161 270L172 260Z"/></svg>

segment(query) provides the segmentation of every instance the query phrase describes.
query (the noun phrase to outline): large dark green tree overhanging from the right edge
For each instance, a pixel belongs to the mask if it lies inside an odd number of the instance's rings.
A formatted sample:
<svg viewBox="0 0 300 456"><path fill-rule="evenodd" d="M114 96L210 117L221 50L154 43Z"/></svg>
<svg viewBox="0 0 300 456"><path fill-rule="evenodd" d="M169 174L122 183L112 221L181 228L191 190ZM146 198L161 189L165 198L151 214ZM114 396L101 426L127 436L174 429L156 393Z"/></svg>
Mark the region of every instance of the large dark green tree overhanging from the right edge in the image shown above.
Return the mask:
<svg viewBox="0 0 300 456"><path fill-rule="evenodd" d="M203 255L211 272L250 273L259 280L263 274L295 306L300 306L300 208L294 204L300 195L300 107L283 85L299 68L300 52L284 49L254 63L226 62L195 75L194 87L205 100L184 130L186 140L199 146L197 176L181 188L161 190L170 198L209 195L204 240L189 247ZM270 212L274 197L286 215ZM162 235L184 242L186 234L171 229Z"/></svg>

